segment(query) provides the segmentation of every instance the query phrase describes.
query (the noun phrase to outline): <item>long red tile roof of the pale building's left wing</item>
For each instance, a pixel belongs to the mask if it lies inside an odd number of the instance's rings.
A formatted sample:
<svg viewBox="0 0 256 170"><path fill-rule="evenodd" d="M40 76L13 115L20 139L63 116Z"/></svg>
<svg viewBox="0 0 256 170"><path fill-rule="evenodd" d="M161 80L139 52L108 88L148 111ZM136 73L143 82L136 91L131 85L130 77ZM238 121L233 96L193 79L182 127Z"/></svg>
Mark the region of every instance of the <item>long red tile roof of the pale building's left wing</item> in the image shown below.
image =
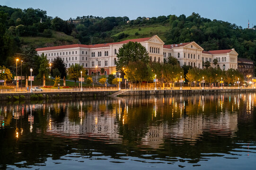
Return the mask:
<svg viewBox="0 0 256 170"><path fill-rule="evenodd" d="M83 48L99 48L99 47L108 47L112 44L123 44L128 42L144 42L149 41L152 37L148 38L137 38L131 40L124 40L122 42L112 42L112 43L104 43L104 44L93 44L93 45L83 45L83 44L72 44L72 45L62 45L62 46L55 46L55 47L44 47L44 48L37 48L36 51L45 51L45 50L57 50L57 49L66 49L66 48L75 48L75 47L83 47Z"/></svg>

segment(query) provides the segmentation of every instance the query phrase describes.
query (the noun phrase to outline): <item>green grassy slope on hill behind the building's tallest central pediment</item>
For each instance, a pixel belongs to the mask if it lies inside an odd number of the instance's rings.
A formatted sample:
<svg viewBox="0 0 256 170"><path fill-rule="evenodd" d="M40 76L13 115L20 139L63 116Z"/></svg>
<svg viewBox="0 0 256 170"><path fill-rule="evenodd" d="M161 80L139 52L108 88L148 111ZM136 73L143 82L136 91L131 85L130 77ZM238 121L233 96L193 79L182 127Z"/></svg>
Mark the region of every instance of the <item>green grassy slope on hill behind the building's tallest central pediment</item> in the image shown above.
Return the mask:
<svg viewBox="0 0 256 170"><path fill-rule="evenodd" d="M139 30L141 28L141 30ZM168 31L170 29L170 26L163 26L163 25L150 25L150 26L141 26L141 27L133 27L133 28L120 28L121 32L114 34L113 36L118 36L119 34L129 34L128 37L122 39L121 41L128 40L128 39L134 39L134 38L144 38L144 37L151 37L153 35L158 35L163 41L166 41L166 34L168 34ZM117 30L113 30L117 31ZM139 33L138 35L135 35L135 33Z"/></svg>

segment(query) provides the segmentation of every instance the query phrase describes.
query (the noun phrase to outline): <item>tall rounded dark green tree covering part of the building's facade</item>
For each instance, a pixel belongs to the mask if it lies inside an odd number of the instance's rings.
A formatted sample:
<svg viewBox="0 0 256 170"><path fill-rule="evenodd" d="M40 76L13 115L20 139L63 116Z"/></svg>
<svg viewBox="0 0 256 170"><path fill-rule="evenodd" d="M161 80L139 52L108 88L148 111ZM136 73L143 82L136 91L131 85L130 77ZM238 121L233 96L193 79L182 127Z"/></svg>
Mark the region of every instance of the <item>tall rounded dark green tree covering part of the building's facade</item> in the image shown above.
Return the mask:
<svg viewBox="0 0 256 170"><path fill-rule="evenodd" d="M119 49L116 62L116 70L122 71L124 66L127 66L129 61L142 61L145 64L149 63L150 57L144 46L139 42L128 42L123 44Z"/></svg>

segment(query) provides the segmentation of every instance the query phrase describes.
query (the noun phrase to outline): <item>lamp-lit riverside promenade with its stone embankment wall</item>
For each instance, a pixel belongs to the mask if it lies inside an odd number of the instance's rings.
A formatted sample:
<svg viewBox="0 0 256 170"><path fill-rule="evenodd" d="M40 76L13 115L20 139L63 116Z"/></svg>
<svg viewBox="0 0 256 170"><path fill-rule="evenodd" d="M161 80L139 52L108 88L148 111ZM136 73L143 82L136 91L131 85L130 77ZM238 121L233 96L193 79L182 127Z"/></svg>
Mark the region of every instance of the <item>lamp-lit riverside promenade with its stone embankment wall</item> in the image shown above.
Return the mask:
<svg viewBox="0 0 256 170"><path fill-rule="evenodd" d="M10 99L35 99L35 98L85 98L85 97L105 97L105 96L148 96L148 95L175 95L175 94L214 94L214 93L253 93L255 88L189 88L182 89L155 89L155 88L134 88L122 89L118 88L80 88L73 89L44 89L43 92L29 93L25 89L1 90L0 100Z"/></svg>

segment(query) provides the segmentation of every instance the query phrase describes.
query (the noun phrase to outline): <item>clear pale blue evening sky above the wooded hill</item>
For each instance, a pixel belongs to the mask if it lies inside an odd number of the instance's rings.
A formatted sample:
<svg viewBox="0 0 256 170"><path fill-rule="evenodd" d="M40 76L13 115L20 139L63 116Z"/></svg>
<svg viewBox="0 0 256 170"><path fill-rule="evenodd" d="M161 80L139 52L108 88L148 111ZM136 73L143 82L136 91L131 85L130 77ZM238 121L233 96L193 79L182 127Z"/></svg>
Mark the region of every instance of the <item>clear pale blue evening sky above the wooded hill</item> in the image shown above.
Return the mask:
<svg viewBox="0 0 256 170"><path fill-rule="evenodd" d="M168 15L217 19L246 28L256 25L256 0L0 0L12 8L40 8L51 17L64 20L77 16L158 17Z"/></svg>

